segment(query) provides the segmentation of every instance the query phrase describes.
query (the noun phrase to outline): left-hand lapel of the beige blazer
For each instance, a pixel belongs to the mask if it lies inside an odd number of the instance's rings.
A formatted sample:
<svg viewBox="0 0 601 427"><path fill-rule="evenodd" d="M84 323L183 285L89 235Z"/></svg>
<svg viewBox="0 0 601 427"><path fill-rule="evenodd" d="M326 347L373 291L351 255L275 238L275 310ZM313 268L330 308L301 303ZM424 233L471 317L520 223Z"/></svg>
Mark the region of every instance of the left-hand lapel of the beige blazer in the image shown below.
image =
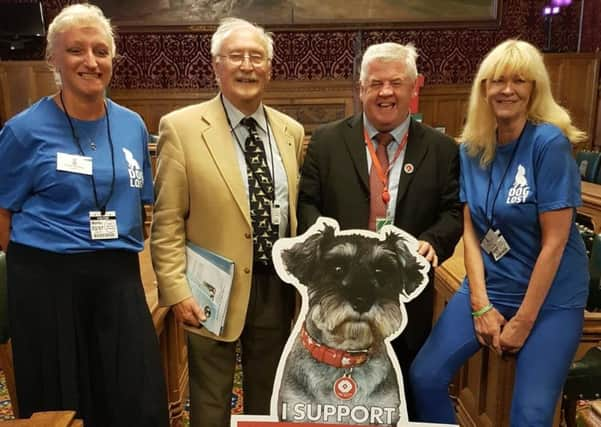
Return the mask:
<svg viewBox="0 0 601 427"><path fill-rule="evenodd" d="M203 124L201 127L202 139L223 181L232 193L238 208L250 225L250 208L246 197L246 189L240 175L238 155L232 143L232 134L229 131L230 126L225 117L223 105L219 96L209 102L210 105L201 118Z"/></svg>

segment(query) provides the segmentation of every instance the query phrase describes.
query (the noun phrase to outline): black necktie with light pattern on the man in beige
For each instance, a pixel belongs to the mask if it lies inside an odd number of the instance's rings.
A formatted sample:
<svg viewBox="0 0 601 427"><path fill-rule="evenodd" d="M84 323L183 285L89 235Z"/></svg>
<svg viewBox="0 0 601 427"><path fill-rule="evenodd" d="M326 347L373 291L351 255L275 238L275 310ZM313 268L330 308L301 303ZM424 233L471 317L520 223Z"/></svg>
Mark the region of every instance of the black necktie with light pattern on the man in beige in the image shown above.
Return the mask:
<svg viewBox="0 0 601 427"><path fill-rule="evenodd" d="M273 180L267 166L263 141L257 133L256 121L245 117L240 124L248 130L244 143L250 218L253 227L254 261L271 263L271 248L278 238L278 228L271 223L271 203L274 200Z"/></svg>

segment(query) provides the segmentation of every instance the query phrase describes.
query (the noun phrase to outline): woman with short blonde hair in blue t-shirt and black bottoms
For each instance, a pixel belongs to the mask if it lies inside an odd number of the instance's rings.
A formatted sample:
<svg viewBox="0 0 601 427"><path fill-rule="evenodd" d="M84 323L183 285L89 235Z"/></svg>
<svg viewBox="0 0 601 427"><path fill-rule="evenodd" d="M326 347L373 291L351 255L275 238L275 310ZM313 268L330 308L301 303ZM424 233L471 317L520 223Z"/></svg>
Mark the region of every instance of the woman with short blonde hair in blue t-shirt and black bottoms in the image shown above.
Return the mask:
<svg viewBox="0 0 601 427"><path fill-rule="evenodd" d="M138 263L153 202L148 132L105 97L115 41L98 7L65 7L47 37L58 93L0 130L19 415L74 410L86 427L166 426Z"/></svg>

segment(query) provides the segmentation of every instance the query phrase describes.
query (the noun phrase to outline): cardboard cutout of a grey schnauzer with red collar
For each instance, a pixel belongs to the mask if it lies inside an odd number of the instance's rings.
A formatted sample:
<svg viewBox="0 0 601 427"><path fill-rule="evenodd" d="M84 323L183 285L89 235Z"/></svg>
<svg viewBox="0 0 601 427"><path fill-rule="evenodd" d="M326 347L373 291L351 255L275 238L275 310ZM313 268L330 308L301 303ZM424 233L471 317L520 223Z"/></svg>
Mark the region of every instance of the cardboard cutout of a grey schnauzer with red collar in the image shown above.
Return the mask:
<svg viewBox="0 0 601 427"><path fill-rule="evenodd" d="M278 365L271 415L234 416L232 425L413 425L390 341L411 321L405 303L428 282L430 264L417 247L392 225L340 231L330 218L278 240L275 269L300 293L301 310Z"/></svg>

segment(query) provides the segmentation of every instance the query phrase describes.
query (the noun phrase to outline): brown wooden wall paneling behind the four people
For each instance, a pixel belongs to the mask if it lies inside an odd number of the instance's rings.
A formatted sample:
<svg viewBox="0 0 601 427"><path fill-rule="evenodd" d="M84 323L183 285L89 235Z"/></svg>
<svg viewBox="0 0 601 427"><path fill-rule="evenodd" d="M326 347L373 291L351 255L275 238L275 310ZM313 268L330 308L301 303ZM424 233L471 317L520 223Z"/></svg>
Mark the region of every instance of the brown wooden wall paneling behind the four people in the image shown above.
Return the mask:
<svg viewBox="0 0 601 427"><path fill-rule="evenodd" d="M574 123L586 130L592 147L596 132L600 54L546 54L552 91L572 114ZM0 62L0 120L6 121L41 96L55 91L52 73L42 61ZM420 112L424 123L444 127L457 137L467 111L470 85L426 85L420 91ZM109 96L137 111L151 133L158 132L160 118L170 111L213 97L207 90L113 89ZM341 119L360 109L357 85L349 80L272 81L265 103L296 118L307 134L320 124ZM601 145L601 142L599 143Z"/></svg>

